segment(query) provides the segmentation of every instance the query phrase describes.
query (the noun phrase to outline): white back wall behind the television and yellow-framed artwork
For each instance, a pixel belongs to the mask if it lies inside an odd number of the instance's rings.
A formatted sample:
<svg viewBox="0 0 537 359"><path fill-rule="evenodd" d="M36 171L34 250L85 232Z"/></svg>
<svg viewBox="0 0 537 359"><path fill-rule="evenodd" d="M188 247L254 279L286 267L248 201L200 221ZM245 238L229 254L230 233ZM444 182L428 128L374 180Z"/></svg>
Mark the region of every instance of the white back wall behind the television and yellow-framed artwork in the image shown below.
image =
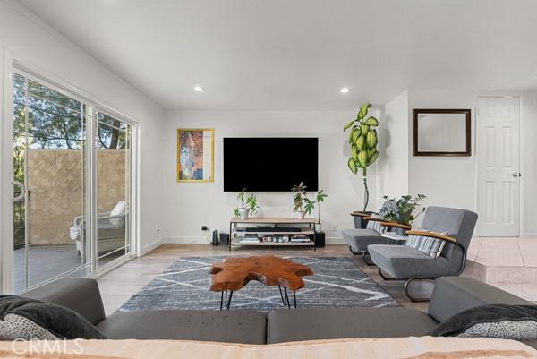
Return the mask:
<svg viewBox="0 0 537 359"><path fill-rule="evenodd" d="M374 111L378 115L379 111ZM362 209L361 176L353 175L346 166L349 156L343 125L355 118L347 112L233 112L170 111L166 114L166 135L162 154L165 170L162 202L165 242L205 242L201 225L211 230L228 232L229 218L236 207L234 192L223 191L222 138L249 136L303 136L319 138L319 185L328 193L321 209L321 221L327 237L338 241L340 231L353 227L349 212ZM175 152L177 128L215 129L215 182L212 184L177 184ZM308 154L304 154L307 156ZM300 150L289 153L300 160ZM240 160L240 159L239 159ZM375 170L369 174L371 208L374 207ZM258 192L260 216L293 216L290 192Z"/></svg>

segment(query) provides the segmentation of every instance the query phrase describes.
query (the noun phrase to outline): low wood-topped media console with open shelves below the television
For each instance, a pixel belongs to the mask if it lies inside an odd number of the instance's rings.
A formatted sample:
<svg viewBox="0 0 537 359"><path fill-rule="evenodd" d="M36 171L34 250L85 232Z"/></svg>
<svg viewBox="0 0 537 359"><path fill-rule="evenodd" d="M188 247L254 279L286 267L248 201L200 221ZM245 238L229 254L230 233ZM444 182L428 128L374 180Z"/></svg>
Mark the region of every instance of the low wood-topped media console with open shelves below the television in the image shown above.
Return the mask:
<svg viewBox="0 0 537 359"><path fill-rule="evenodd" d="M316 250L315 218L231 218L229 251L233 246L311 246ZM307 225L307 227L306 227ZM293 227L288 227L293 226Z"/></svg>

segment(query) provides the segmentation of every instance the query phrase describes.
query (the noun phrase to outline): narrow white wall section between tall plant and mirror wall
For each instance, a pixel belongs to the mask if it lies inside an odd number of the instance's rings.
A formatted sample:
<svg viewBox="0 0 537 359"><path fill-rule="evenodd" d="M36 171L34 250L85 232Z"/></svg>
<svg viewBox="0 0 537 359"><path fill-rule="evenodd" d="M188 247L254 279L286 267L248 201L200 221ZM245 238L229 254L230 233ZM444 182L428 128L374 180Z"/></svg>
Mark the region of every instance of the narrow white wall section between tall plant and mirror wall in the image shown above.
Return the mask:
<svg viewBox="0 0 537 359"><path fill-rule="evenodd" d="M377 205L382 195L399 197L408 193L408 92L384 106L379 125L379 164L377 166Z"/></svg>

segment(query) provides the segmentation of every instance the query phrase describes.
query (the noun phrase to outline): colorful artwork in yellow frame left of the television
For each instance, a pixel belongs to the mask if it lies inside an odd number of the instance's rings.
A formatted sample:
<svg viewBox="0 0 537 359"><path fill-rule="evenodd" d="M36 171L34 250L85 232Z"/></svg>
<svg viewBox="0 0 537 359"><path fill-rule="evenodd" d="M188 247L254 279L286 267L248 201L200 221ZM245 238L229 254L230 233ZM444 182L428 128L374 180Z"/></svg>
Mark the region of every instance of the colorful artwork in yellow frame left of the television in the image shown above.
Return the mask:
<svg viewBox="0 0 537 359"><path fill-rule="evenodd" d="M177 182L213 182L214 151L214 129L177 129Z"/></svg>

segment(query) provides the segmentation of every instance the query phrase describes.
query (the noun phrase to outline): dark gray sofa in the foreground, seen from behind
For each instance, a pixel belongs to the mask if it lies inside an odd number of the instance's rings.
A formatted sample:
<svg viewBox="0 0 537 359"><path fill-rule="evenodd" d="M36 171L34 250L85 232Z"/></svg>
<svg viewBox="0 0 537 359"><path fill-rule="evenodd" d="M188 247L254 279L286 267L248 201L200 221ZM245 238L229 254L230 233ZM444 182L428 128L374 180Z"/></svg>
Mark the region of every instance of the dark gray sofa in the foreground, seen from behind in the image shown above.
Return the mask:
<svg viewBox="0 0 537 359"><path fill-rule="evenodd" d="M440 321L474 306L532 304L472 278L436 279L429 311L405 308L282 309L253 311L115 312L106 317L94 279L65 278L24 296L79 312L112 339L183 339L244 344L334 338L424 336ZM526 344L537 348L537 341Z"/></svg>

